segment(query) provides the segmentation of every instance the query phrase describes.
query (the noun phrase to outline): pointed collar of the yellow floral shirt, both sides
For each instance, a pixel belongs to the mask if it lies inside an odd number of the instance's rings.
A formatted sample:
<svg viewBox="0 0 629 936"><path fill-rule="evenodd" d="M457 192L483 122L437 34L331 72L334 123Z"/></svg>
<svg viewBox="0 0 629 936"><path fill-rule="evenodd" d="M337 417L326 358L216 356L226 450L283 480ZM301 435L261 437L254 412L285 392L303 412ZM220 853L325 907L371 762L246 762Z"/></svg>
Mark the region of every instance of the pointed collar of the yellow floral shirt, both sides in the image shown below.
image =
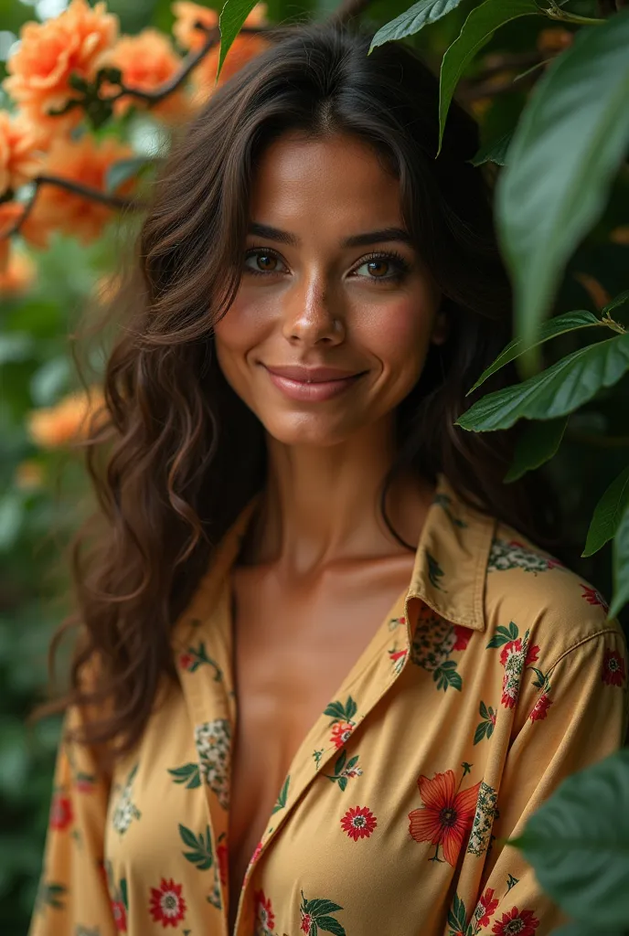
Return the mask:
<svg viewBox="0 0 629 936"><path fill-rule="evenodd" d="M194 606L212 605L236 561L256 495L241 511L213 555ZM484 631L485 578L496 520L465 504L446 475L437 485L415 556L406 602L420 599L446 621ZM207 613L207 611L206 611ZM189 616L186 614L186 617Z"/></svg>

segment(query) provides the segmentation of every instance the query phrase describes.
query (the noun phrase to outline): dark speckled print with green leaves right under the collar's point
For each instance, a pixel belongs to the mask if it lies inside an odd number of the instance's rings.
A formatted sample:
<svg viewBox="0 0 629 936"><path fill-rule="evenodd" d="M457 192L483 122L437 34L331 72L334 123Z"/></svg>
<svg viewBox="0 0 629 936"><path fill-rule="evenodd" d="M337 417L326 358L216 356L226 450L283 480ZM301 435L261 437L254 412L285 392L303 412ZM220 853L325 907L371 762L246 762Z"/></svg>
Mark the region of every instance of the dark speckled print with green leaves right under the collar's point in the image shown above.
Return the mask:
<svg viewBox="0 0 629 936"><path fill-rule="evenodd" d="M450 660L449 656L467 646L467 640L461 636L464 630L440 617L428 605L419 608L411 644L411 663L432 673L437 689L443 689L444 692L450 686L461 692L462 680L457 671L457 662ZM469 631L466 633L469 634Z"/></svg>

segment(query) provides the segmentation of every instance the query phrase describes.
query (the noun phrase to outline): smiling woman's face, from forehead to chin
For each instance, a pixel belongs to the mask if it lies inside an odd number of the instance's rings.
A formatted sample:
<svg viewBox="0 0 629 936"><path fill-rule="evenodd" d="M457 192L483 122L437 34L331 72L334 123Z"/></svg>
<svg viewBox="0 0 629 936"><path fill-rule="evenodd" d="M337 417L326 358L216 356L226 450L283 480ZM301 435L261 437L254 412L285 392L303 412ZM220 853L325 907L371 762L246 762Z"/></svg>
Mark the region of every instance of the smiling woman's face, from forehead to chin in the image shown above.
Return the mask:
<svg viewBox="0 0 629 936"><path fill-rule="evenodd" d="M256 171L241 285L216 325L228 383L271 436L330 446L392 415L445 340L400 186L358 139L285 135Z"/></svg>

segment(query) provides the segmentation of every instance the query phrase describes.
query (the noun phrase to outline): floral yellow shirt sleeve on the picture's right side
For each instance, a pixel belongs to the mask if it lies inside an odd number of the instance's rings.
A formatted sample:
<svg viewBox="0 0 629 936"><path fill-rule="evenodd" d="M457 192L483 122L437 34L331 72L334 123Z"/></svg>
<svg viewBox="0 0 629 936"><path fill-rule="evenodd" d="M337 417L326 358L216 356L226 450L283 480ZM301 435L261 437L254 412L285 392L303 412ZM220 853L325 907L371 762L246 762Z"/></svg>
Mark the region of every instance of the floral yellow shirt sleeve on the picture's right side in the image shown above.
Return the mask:
<svg viewBox="0 0 629 936"><path fill-rule="evenodd" d="M622 746L626 681L620 630L585 638L549 669L506 755L493 845L465 936L547 936L566 921L519 850L504 842L523 831L565 777Z"/></svg>

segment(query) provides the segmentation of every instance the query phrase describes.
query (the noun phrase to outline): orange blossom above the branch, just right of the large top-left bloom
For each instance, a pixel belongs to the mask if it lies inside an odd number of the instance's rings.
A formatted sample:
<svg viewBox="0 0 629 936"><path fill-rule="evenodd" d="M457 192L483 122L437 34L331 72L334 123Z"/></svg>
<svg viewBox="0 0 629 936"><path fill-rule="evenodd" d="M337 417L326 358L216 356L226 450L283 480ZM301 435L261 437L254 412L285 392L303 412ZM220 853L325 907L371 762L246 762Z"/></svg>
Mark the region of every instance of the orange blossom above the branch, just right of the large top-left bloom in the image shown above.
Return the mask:
<svg viewBox="0 0 629 936"><path fill-rule="evenodd" d="M208 11L210 12L210 10ZM151 27L143 29L137 36L124 36L99 61L99 66L114 66L123 73L123 83L128 88L154 91L168 81L181 65L181 58L172 48L167 36ZM115 91L116 86L103 85L105 94ZM146 107L146 102L137 97L122 97L114 104L116 114L125 113L133 105ZM154 113L171 119L185 116L186 100L183 92L177 91L154 105Z"/></svg>

